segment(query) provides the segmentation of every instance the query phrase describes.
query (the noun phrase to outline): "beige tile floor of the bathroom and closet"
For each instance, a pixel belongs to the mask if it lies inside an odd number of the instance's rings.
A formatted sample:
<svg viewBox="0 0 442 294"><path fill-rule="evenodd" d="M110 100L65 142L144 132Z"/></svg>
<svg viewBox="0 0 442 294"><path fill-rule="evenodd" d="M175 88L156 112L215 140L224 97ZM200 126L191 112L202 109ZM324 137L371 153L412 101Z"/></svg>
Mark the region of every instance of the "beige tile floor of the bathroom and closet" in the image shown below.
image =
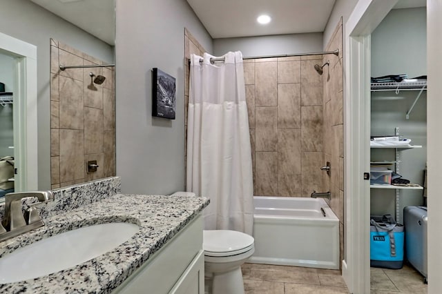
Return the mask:
<svg viewBox="0 0 442 294"><path fill-rule="evenodd" d="M296 266L244 264L247 294L332 294L349 293L340 271ZM401 270L371 269L372 294L427 293L423 277L410 266Z"/></svg>

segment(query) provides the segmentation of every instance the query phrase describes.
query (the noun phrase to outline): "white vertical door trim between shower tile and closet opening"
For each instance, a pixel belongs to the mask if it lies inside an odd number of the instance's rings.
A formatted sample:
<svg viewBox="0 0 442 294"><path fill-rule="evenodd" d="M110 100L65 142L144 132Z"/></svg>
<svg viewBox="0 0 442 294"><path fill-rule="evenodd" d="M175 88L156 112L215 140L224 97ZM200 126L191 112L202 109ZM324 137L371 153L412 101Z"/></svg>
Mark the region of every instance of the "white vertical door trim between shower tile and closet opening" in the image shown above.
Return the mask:
<svg viewBox="0 0 442 294"><path fill-rule="evenodd" d="M346 41L346 72L352 72L346 76L346 92L352 98L345 99L347 273L343 276L349 279L345 282L350 293L369 293L369 181L363 179L363 173L369 173L369 41L369 35Z"/></svg>

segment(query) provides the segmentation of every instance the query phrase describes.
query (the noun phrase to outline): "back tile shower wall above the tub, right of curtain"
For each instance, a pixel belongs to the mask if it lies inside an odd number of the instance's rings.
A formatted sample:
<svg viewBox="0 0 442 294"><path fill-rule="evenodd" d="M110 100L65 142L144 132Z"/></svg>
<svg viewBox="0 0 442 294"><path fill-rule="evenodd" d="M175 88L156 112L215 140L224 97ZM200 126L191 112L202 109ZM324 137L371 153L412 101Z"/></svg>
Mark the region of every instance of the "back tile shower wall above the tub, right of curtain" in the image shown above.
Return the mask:
<svg viewBox="0 0 442 294"><path fill-rule="evenodd" d="M323 192L322 57L244 60L254 195Z"/></svg>

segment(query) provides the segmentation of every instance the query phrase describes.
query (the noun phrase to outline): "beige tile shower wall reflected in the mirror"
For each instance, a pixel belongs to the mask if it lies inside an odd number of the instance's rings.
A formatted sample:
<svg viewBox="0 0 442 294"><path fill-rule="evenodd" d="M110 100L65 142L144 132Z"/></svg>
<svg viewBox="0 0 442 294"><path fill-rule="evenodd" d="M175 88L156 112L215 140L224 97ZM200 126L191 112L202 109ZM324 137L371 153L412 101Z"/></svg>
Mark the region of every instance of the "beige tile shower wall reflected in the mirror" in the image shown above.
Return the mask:
<svg viewBox="0 0 442 294"><path fill-rule="evenodd" d="M64 43L50 40L50 169L52 188L115 176L114 68L71 68L106 64ZM93 84L89 72L103 75ZM95 173L87 161L97 160Z"/></svg>

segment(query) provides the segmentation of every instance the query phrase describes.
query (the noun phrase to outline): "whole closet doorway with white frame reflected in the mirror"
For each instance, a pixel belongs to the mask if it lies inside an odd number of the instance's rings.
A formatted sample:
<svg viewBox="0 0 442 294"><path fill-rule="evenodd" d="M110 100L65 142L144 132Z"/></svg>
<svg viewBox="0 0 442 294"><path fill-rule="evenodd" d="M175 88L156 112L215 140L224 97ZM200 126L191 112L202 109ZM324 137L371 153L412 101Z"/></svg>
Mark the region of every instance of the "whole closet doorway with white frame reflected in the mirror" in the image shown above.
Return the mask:
<svg viewBox="0 0 442 294"><path fill-rule="evenodd" d="M0 33L0 66L0 157L14 164L3 188L37 190L37 47Z"/></svg>

